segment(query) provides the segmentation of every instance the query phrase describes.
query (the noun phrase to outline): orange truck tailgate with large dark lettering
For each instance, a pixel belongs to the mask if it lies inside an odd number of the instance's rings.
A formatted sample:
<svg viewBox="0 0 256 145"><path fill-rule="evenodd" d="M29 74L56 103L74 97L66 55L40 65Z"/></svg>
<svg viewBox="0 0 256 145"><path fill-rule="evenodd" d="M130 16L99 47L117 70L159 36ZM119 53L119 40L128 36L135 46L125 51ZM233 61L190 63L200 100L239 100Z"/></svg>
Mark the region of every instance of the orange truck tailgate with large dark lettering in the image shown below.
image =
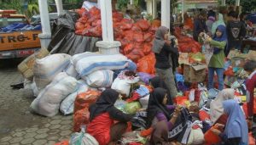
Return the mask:
<svg viewBox="0 0 256 145"><path fill-rule="evenodd" d="M13 31L0 33L0 51L40 47L41 31Z"/></svg>

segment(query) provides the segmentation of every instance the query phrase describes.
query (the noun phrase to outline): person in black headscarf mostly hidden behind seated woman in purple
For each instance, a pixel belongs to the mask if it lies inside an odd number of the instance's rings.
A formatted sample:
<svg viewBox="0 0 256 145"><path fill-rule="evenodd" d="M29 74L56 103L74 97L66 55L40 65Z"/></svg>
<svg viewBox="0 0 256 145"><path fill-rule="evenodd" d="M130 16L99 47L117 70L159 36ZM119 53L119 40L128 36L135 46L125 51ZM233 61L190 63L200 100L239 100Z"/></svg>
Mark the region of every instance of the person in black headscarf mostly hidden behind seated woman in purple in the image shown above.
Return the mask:
<svg viewBox="0 0 256 145"><path fill-rule="evenodd" d="M163 81L160 76L155 76L154 78L149 80L150 86L153 88L161 87L163 89L166 89L167 92L167 104L172 104L172 97L168 90L168 87L166 86L165 81Z"/></svg>

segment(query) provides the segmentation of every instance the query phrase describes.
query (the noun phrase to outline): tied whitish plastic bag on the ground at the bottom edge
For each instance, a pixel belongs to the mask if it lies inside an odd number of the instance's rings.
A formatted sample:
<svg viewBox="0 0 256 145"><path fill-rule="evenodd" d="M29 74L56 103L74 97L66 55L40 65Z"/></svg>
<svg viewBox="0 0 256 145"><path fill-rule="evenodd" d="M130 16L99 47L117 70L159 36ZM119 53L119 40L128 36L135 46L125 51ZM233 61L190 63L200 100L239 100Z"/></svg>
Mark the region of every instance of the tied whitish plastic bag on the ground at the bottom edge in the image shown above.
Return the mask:
<svg viewBox="0 0 256 145"><path fill-rule="evenodd" d="M81 127L80 132L75 132L72 134L71 139L69 141L70 145L99 145L96 139L90 134L85 133L85 126Z"/></svg>

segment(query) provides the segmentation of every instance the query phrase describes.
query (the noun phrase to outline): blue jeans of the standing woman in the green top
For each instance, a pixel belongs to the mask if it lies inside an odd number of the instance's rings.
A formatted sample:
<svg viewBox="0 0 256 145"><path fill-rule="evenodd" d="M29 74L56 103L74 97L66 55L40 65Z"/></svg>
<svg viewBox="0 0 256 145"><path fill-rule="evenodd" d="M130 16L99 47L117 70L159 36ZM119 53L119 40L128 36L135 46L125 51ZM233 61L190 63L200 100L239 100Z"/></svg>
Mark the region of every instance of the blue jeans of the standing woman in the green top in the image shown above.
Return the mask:
<svg viewBox="0 0 256 145"><path fill-rule="evenodd" d="M208 67L208 89L213 88L214 72L216 71L218 76L218 90L224 89L224 68L212 68Z"/></svg>

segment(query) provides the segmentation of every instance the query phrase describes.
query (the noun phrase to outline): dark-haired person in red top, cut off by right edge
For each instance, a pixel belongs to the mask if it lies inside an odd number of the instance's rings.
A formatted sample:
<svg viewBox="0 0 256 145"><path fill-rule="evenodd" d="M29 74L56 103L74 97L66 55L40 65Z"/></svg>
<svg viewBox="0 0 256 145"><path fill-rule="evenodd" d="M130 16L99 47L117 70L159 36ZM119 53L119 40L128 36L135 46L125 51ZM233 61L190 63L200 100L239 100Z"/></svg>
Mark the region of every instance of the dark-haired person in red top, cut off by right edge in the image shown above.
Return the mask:
<svg viewBox="0 0 256 145"><path fill-rule="evenodd" d="M249 60L243 66L244 70L246 70L249 74L249 77L246 82L247 86L247 112L248 112L248 119L249 121L253 120L253 93L256 86L256 61ZM254 118L255 120L256 118Z"/></svg>

